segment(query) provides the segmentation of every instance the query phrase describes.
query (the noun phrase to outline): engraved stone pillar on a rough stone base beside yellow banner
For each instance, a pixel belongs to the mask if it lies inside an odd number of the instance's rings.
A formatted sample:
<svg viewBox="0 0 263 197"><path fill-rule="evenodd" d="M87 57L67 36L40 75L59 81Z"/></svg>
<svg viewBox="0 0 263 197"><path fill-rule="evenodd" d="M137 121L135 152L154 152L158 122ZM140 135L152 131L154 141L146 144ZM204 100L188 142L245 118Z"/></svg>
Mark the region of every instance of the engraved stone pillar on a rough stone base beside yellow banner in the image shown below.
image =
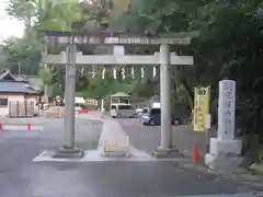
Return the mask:
<svg viewBox="0 0 263 197"><path fill-rule="evenodd" d="M205 163L214 170L231 171L242 161L242 141L235 139L236 82L219 82L218 134L210 139Z"/></svg>

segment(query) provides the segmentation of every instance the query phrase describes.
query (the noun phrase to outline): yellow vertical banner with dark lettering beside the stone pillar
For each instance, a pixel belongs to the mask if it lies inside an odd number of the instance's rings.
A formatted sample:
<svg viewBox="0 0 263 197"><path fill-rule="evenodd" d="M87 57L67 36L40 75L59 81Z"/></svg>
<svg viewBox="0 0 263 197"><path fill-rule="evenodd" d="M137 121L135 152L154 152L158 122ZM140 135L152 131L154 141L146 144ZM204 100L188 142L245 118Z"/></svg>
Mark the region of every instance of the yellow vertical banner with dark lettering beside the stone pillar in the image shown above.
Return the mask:
<svg viewBox="0 0 263 197"><path fill-rule="evenodd" d="M206 116L209 113L210 88L195 88L194 102L194 131L206 130Z"/></svg>

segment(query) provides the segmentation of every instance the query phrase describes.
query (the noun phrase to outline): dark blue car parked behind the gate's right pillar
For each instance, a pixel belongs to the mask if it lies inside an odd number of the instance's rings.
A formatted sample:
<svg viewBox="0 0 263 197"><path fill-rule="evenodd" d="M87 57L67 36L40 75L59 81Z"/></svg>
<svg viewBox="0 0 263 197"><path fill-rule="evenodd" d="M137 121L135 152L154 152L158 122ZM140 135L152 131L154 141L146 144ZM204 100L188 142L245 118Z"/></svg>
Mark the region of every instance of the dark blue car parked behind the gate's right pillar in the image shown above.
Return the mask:
<svg viewBox="0 0 263 197"><path fill-rule="evenodd" d="M140 115L140 121L144 125L156 126L161 125L161 108L149 108ZM181 118L172 115L172 125L180 125Z"/></svg>

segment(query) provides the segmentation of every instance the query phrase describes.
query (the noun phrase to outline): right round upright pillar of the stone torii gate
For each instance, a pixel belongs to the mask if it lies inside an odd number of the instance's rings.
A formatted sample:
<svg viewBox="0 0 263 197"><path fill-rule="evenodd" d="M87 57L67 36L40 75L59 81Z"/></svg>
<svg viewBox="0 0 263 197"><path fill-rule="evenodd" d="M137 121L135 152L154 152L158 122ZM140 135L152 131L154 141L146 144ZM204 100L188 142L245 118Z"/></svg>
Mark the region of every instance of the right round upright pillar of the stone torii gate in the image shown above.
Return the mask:
<svg viewBox="0 0 263 197"><path fill-rule="evenodd" d="M171 57L170 46L160 46L161 149L172 148Z"/></svg>

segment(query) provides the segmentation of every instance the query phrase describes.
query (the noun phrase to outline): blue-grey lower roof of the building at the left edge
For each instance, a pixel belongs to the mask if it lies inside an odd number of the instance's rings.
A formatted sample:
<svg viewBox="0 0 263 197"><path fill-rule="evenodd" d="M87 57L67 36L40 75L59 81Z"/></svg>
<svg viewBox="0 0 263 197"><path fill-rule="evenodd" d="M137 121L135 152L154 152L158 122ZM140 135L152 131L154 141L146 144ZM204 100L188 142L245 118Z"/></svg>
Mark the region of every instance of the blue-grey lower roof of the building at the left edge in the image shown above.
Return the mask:
<svg viewBox="0 0 263 197"><path fill-rule="evenodd" d="M38 93L30 85L23 82L12 82L12 81L0 81L0 92L10 92L10 93L27 93L34 94Z"/></svg>

